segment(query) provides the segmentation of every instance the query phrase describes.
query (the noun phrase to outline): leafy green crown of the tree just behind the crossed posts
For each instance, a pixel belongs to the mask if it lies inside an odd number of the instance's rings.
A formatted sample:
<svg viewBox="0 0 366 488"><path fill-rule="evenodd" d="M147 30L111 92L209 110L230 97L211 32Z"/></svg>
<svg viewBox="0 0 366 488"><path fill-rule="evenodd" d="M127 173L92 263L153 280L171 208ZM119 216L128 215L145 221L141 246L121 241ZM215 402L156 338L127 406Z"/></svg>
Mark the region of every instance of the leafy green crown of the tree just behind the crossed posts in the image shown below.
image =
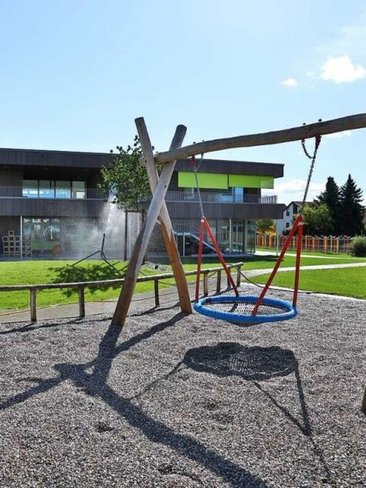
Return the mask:
<svg viewBox="0 0 366 488"><path fill-rule="evenodd" d="M116 154L110 166L102 167L102 184L104 191L115 195L115 202L130 211L141 211L142 202L151 194L145 167L140 163L142 150L138 137L133 146L123 149L117 146Z"/></svg>

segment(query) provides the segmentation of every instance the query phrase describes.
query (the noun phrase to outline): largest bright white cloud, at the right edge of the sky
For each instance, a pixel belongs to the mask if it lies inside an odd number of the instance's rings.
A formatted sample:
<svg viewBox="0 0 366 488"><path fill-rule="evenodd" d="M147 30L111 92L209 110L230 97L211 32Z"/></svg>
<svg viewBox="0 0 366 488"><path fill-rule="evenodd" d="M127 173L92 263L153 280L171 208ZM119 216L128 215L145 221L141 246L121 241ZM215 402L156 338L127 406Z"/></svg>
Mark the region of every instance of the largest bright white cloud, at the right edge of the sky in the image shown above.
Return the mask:
<svg viewBox="0 0 366 488"><path fill-rule="evenodd" d="M347 55L329 58L322 65L320 77L334 83L350 83L366 77L366 69L360 64L354 64Z"/></svg>

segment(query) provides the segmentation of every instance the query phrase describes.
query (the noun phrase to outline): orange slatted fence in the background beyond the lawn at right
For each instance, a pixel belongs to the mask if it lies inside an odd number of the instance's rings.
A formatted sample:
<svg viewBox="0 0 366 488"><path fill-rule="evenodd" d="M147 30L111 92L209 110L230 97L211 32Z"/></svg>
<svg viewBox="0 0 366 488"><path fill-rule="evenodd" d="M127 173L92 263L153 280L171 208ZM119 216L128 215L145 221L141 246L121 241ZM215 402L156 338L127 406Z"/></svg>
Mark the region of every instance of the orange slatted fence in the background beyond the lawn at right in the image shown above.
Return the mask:
<svg viewBox="0 0 366 488"><path fill-rule="evenodd" d="M256 247L279 250L282 249L286 236L257 234ZM310 252L323 252L329 254L348 254L351 249L352 237L349 236L303 236L302 249ZM291 239L289 249L296 250L297 236Z"/></svg>

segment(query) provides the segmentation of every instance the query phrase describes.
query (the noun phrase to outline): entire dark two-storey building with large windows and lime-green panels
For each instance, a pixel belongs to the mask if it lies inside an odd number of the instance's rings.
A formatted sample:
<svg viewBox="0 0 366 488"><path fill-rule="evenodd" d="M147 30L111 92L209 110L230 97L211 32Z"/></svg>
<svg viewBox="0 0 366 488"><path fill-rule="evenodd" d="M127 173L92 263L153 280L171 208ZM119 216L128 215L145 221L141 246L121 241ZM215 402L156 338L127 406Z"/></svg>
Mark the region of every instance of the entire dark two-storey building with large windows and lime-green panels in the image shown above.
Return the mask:
<svg viewBox="0 0 366 488"><path fill-rule="evenodd" d="M111 257L129 256L141 216L128 214L127 239L126 215L98 189L100 169L112 158L110 153L0 149L0 256L85 256L99 249L103 234ZM204 212L225 253L254 252L255 221L282 216L284 205L261 196L262 188L273 188L281 176L281 164L202 161L198 182ZM166 201L181 253L195 254L200 206L191 161L178 161ZM162 252L158 241L152 252Z"/></svg>

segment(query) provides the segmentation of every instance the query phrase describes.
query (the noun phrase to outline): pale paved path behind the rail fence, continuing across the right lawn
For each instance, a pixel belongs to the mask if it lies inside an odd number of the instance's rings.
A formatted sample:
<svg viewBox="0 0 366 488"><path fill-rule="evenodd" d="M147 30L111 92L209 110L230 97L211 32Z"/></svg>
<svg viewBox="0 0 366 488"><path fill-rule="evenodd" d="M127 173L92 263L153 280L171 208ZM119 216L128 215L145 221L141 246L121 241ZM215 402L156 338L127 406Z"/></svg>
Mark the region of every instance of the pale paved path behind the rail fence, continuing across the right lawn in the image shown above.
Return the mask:
<svg viewBox="0 0 366 488"><path fill-rule="evenodd" d="M358 267L365 267L366 262L362 263L344 263L344 264L322 264L322 265L313 265L313 266L303 266L302 270L316 270L316 269L341 269L341 268L358 268ZM256 270L245 270L243 273L248 278L252 278L255 276L269 274L271 273L273 268L265 268L265 269L256 269ZM294 267L284 267L279 268L279 272L285 271L294 271ZM194 284L190 285L191 289L193 290ZM164 293L164 292L163 292ZM162 294L163 294L162 293ZM169 301L171 303L175 303L177 301L177 295L169 293ZM194 293L191 292L191 296ZM85 315L97 315L97 314L105 314L112 316L114 313L114 309L116 307L117 299L113 300L104 300L100 302L86 302L85 304ZM144 309L153 308L154 307L154 297L151 294L141 294L137 295L136 299L131 303L131 310L141 308L141 304L143 303ZM37 308L37 319L38 320L54 320L54 319L67 319L67 318L77 318L79 314L79 305L78 303L68 304L68 305L54 305L51 307L44 307L44 308ZM30 321L29 317L29 310L24 310L22 312L0 312L0 324L2 323L9 323L9 322L28 322Z"/></svg>

